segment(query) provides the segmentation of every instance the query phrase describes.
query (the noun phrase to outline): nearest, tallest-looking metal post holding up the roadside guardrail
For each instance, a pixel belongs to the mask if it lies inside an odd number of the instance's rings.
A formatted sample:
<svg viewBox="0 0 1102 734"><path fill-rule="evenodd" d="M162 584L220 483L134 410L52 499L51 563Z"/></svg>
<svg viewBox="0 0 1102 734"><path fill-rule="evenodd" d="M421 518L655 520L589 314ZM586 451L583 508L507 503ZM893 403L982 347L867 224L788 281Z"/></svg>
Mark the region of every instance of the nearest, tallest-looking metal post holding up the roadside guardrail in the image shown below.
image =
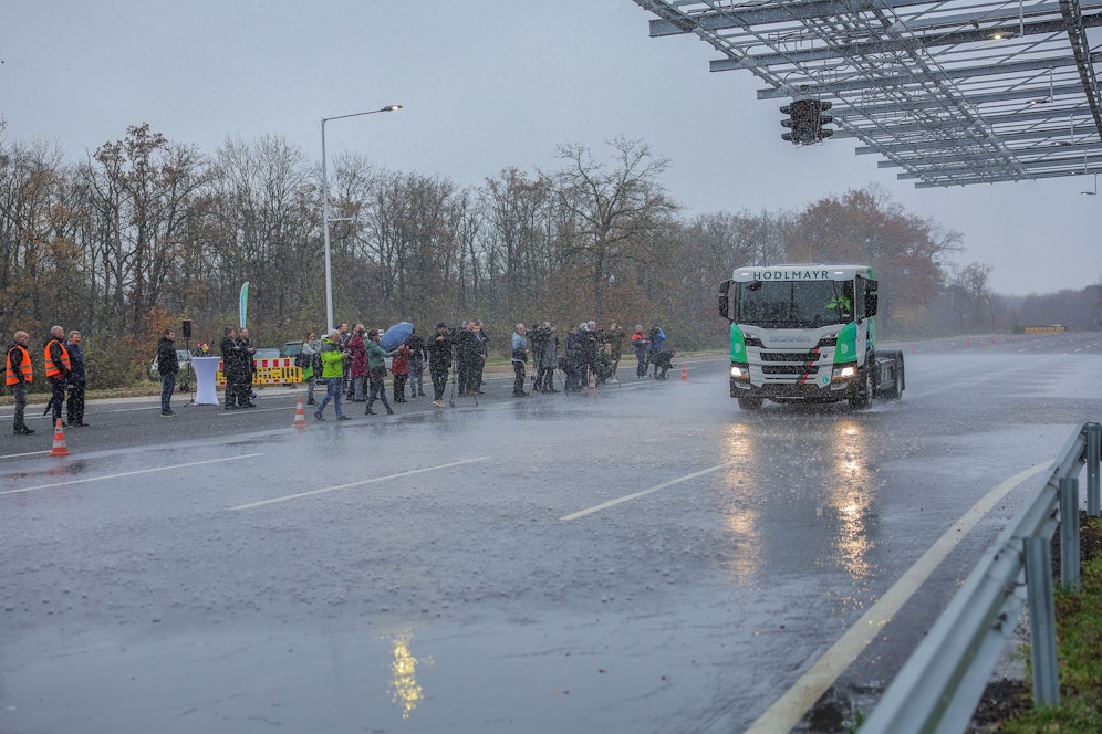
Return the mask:
<svg viewBox="0 0 1102 734"><path fill-rule="evenodd" d="M1033 705L1060 704L1057 664L1056 602L1052 599L1052 548L1043 537L1022 538L1026 552L1026 596L1029 604L1029 648L1033 663Z"/></svg>

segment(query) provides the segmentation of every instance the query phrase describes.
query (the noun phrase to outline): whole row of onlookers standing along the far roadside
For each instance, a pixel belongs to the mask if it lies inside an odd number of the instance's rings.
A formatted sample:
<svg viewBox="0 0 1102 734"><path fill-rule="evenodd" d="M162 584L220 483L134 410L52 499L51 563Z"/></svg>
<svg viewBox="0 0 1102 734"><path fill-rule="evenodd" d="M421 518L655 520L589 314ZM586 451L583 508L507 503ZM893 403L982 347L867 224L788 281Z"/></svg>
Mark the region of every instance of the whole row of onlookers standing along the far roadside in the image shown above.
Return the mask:
<svg viewBox="0 0 1102 734"><path fill-rule="evenodd" d="M187 325L185 323L185 327ZM87 426L84 422L87 377L81 339L80 332L70 332L66 337L64 328L54 326L43 345L45 377L51 386L45 413L52 413L58 421L62 420L64 410L64 427ZM514 375L512 395L529 395L526 389L529 364L532 366L530 390L536 392L579 392L591 382L617 381L616 370L626 342L635 350L637 379L646 379L652 366L654 379L666 379L675 352L665 348L665 339L658 326L644 332L642 324L636 325L631 335L616 322L603 329L597 328L595 322L581 322L569 326L564 335L560 335L559 328L549 321L531 326L517 324L509 342ZM412 328L408 337L393 349L383 348L378 329L368 329L363 324L350 328L347 323L342 323L321 339L316 332L304 334L294 364L302 369L306 405L314 407L314 418L324 420L325 407L332 402L337 420L347 420L346 400L365 403L364 413L368 416L375 415L376 401L387 415L394 412L385 387L388 358L394 402L406 402L407 392L409 398L426 397L426 367L434 406L444 407L445 389L453 373L455 389L460 396L481 395L489 344L490 337L481 321L462 321L453 327L439 322L427 336ZM257 349L249 338L249 329L227 326L220 350L226 377L225 409L254 408L252 379ZM157 343L155 364L162 384L160 415L176 416L171 407L179 371L175 329L165 329ZM28 386L33 379L27 332L15 332L8 346L6 367L7 385L15 398L14 432L17 436L33 433L24 419ZM561 390L555 388L557 370ZM320 400L315 395L319 386L324 386L324 397Z"/></svg>

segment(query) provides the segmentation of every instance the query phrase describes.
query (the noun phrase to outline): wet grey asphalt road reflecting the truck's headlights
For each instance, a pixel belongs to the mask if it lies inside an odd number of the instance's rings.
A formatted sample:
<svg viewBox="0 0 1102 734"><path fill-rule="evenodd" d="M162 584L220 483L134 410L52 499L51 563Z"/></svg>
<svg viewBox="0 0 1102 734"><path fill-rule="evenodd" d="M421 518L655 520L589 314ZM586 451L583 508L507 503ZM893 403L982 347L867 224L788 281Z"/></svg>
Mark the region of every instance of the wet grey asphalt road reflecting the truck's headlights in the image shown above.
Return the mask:
<svg viewBox="0 0 1102 734"><path fill-rule="evenodd" d="M904 399L860 412L740 412L701 359L305 429L284 388L93 403L64 458L4 433L0 732L830 731L805 674L842 646L824 700L871 706L1040 475L885 591L1102 417L1099 335L898 347Z"/></svg>

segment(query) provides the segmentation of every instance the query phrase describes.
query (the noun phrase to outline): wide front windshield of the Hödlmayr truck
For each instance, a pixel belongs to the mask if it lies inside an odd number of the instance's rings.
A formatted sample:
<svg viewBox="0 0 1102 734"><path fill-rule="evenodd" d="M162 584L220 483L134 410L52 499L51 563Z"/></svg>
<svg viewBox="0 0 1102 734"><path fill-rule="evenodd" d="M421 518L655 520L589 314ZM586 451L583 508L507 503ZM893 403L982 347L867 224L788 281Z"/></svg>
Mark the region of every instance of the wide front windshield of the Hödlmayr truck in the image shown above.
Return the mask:
<svg viewBox="0 0 1102 734"><path fill-rule="evenodd" d="M738 284L735 321L802 328L853 321L850 281L750 281Z"/></svg>

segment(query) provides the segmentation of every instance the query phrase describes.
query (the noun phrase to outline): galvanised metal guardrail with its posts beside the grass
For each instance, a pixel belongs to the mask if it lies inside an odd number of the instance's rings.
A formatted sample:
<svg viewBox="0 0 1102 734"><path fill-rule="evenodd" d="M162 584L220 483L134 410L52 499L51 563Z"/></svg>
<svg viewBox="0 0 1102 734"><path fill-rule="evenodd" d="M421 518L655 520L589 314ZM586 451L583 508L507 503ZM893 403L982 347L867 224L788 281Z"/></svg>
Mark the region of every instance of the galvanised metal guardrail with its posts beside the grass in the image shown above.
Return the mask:
<svg viewBox="0 0 1102 734"><path fill-rule="evenodd" d="M1051 542L1059 526L1060 580L1078 590L1079 475L1085 464L1087 513L1096 517L1100 444L1099 423L1084 423L1068 439L1049 480L980 558L861 734L964 732L1027 601L1033 701L1060 703Z"/></svg>

